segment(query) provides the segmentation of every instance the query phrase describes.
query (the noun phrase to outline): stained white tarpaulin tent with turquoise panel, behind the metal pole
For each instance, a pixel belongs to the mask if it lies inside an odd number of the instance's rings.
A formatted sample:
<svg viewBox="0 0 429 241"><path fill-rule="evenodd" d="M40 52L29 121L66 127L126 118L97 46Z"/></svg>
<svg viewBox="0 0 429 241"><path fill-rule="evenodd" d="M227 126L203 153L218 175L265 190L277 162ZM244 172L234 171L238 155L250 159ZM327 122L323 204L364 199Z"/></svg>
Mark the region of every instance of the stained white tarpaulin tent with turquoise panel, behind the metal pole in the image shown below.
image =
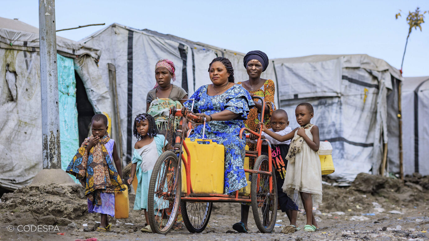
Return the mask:
<svg viewBox="0 0 429 241"><path fill-rule="evenodd" d="M57 53L64 169L80 145L76 78L82 79L94 112L110 113L111 105L97 69L100 50L57 36ZM42 169L39 29L0 18L0 56L0 186L16 189Z"/></svg>

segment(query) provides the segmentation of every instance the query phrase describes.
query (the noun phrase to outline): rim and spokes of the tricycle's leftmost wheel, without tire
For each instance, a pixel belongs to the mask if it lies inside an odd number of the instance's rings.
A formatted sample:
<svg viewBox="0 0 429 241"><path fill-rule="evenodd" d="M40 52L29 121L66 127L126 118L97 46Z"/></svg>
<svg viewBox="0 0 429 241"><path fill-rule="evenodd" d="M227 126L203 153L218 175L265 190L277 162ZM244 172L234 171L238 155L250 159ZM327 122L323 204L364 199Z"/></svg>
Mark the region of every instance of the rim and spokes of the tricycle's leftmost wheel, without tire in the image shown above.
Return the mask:
<svg viewBox="0 0 429 241"><path fill-rule="evenodd" d="M176 177L177 160L175 156L167 157L157 174L154 192L154 217L157 229L160 232L167 232L175 221L178 213L180 192ZM179 182L180 183L180 182ZM180 195L180 193L179 193Z"/></svg>

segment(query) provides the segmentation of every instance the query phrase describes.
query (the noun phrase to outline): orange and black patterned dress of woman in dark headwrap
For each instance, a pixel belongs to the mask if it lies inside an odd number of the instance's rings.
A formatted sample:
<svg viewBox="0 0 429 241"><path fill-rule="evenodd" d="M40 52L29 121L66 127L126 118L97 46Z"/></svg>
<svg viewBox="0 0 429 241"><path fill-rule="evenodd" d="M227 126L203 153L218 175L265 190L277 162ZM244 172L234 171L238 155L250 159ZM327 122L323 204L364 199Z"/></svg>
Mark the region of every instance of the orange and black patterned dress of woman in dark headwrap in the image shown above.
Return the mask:
<svg viewBox="0 0 429 241"><path fill-rule="evenodd" d="M242 82L238 82L237 84L242 84ZM265 124L266 128L271 128L271 123L270 123L271 114L272 114L272 111L275 111L274 81L272 81L271 79L267 79L262 87L260 87L257 90L254 90L254 91L249 91L249 93L257 95L257 96L261 96L264 99L265 104L269 106L269 111L267 109L265 109L264 124ZM254 101L260 102L259 99L254 99ZM246 128L257 132L258 131L257 126L258 126L258 123L260 120L260 116L261 116L261 111L259 111L256 107L251 108L250 112L247 116L247 120L245 120L245 122L244 122ZM256 144L247 143L247 145L249 146L250 151L256 151ZM263 146L263 148L264 148L264 146ZM253 169L254 163L255 163L255 160L254 159L252 160L252 158L251 158L249 160L249 169Z"/></svg>

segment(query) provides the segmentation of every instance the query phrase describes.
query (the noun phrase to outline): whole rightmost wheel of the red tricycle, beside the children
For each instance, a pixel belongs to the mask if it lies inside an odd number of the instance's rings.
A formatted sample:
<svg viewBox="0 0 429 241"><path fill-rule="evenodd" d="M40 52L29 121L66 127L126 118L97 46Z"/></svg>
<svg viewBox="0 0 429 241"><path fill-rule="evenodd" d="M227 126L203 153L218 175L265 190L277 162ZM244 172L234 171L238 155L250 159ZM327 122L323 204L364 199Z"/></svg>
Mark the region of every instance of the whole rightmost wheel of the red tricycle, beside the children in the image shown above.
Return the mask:
<svg viewBox="0 0 429 241"><path fill-rule="evenodd" d="M255 160L253 169L269 172L268 157L266 155L259 156ZM256 226L262 233L272 232L277 217L277 183L274 170L271 173L272 190L269 190L269 175L252 173L252 212Z"/></svg>

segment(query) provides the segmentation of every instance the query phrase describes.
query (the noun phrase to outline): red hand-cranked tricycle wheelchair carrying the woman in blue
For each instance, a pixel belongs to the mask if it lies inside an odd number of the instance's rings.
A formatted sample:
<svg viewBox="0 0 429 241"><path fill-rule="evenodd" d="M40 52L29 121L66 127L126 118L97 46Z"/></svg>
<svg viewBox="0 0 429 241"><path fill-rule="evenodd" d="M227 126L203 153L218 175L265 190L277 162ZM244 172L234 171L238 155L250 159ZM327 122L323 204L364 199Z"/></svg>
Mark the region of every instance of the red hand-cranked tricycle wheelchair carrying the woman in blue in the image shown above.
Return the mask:
<svg viewBox="0 0 429 241"><path fill-rule="evenodd" d="M263 102L263 99L259 96L253 96L253 98L260 99ZM263 122L265 111L265 105L262 106L261 122ZM169 130L172 130L172 123L174 122L172 119L174 117L181 117L181 121L176 131L174 145L170 145L169 150L160 155L152 170L148 188L147 208L152 231L167 234L175 223L179 207L184 225L189 232L194 233L202 232L207 226L213 202L250 202L254 220L260 232L272 232L277 217L277 187L275 172L272 168L271 145L266 139L261 139L262 130L259 130L259 133L247 128L240 130L240 138L243 137L244 131L258 137L257 151L246 151L245 154L246 157L256 158L254 169L244 169L246 173L252 175L250 193L247 196L239 195L239 190L235 191L233 195L221 194L223 192L199 192L193 189L193 183L191 182L191 169L198 168L198 166L191 166L191 160L195 159L192 153L195 154L195 151L198 152L199 149L190 150L188 148L192 142L190 139L185 140L183 134L186 133L185 137L188 137L191 130L185 132L186 128L182 129L184 119L189 121L188 126L190 128L191 123L204 125L203 139L197 139L194 142L211 142L212 139L204 139L205 118L193 114L192 109L193 106L190 111L187 108L176 109L173 107L170 109ZM172 143L172 133L167 133L167 136L169 143ZM263 141L268 144L268 156L261 155ZM211 159L210 156L206 157ZM221 158L224 158L224 156ZM206 173L211 171L210 169L204 170ZM182 181L186 181L186 185L182 185ZM223 179L221 181L223 185Z"/></svg>

